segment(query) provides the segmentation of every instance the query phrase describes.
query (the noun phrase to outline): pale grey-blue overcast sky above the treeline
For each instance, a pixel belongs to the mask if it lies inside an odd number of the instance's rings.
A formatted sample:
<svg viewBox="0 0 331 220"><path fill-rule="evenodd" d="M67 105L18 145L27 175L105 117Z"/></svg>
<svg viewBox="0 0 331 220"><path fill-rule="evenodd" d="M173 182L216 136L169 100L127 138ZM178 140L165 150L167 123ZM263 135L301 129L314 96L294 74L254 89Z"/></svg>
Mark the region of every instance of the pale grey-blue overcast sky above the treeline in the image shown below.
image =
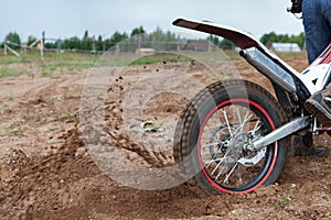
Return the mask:
<svg viewBox="0 0 331 220"><path fill-rule="evenodd" d="M249 32L259 38L265 33L299 34L302 20L286 12L290 0L0 0L0 42L15 31L21 41L29 35L46 38L110 37L142 25L147 32L190 33L171 23L177 18L206 20ZM196 34L195 36L201 36Z"/></svg>

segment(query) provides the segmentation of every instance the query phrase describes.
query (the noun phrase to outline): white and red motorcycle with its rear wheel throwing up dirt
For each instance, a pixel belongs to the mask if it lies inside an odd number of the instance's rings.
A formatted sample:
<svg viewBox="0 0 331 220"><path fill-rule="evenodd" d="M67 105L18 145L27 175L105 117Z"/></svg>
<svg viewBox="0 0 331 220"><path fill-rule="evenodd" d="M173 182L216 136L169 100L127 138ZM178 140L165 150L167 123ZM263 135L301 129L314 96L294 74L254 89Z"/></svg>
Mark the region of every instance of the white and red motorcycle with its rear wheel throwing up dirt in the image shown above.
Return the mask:
<svg viewBox="0 0 331 220"><path fill-rule="evenodd" d="M331 77L331 44L298 73L241 30L177 19L174 25L232 41L239 55L271 82L276 97L253 81L216 81L201 90L180 116L174 158L188 185L205 194L246 194L281 179L293 154L291 138L329 131L305 101Z"/></svg>

